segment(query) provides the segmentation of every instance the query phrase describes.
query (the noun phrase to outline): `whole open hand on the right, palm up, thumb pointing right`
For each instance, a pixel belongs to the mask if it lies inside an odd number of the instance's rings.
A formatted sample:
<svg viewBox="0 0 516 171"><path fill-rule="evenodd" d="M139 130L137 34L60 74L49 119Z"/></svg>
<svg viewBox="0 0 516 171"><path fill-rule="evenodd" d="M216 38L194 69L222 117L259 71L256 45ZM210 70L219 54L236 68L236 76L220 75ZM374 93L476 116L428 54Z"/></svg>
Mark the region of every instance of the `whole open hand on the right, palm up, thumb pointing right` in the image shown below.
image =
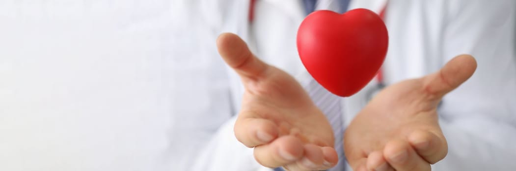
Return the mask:
<svg viewBox="0 0 516 171"><path fill-rule="evenodd" d="M448 151L437 106L475 69L472 56L459 55L436 73L378 93L345 132L345 154L353 170L430 170Z"/></svg>

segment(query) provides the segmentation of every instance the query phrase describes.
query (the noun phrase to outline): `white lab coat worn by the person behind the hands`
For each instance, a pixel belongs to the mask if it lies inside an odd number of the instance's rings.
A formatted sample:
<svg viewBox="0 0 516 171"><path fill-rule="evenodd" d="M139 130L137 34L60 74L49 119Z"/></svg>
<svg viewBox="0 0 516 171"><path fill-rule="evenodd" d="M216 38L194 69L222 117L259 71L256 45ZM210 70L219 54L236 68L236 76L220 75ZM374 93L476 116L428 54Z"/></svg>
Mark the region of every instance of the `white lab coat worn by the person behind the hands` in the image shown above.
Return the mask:
<svg viewBox="0 0 516 171"><path fill-rule="evenodd" d="M257 56L296 75L300 82L310 79L295 47L296 30L304 17L301 1L259 0L252 25L247 22L249 3L233 3L238 8L232 11L236 12L234 18L224 20L224 31L244 37ZM350 8L379 12L385 3L352 1ZM473 77L447 94L438 111L449 150L433 170L516 169L515 7L510 0L389 1L385 23L390 42L383 67L386 83L437 71L458 54L472 54L478 62ZM237 110L243 88L233 71L228 74ZM366 92L375 84L372 81L344 99L345 123L365 105ZM268 170L254 162L252 149L232 136L233 122L223 125L206 146L196 170Z"/></svg>

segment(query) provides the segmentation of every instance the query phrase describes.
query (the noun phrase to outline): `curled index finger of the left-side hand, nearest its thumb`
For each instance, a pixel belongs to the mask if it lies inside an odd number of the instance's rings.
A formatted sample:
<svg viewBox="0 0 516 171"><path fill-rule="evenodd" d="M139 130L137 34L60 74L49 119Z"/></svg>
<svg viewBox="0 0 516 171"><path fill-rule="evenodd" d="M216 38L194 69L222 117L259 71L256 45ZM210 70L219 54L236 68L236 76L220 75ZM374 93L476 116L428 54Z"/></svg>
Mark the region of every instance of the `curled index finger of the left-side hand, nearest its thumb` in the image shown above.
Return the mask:
<svg viewBox="0 0 516 171"><path fill-rule="evenodd" d="M235 137L247 147L269 143L278 137L278 126L270 120L261 118L241 118L233 128Z"/></svg>

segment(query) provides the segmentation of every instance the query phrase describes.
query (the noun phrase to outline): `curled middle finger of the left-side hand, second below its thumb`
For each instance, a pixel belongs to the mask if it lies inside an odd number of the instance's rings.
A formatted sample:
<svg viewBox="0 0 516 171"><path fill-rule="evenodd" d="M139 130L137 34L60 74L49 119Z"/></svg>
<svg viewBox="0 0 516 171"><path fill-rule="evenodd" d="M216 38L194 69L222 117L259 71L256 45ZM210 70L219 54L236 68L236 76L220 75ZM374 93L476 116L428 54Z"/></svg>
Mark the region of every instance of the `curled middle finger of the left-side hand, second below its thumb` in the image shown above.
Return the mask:
<svg viewBox="0 0 516 171"><path fill-rule="evenodd" d="M254 147L254 158L266 167L280 167L303 157L304 146L294 136L283 136L269 144Z"/></svg>

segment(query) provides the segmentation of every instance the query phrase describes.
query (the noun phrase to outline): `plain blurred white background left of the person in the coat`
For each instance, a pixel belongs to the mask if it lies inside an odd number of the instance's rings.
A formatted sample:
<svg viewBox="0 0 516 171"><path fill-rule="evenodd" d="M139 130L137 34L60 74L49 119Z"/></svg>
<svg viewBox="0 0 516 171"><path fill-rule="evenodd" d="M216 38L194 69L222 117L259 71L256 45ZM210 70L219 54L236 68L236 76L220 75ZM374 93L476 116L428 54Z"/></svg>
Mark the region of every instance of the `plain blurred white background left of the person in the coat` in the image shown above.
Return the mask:
<svg viewBox="0 0 516 171"><path fill-rule="evenodd" d="M202 3L0 0L0 170L188 170L234 115Z"/></svg>

